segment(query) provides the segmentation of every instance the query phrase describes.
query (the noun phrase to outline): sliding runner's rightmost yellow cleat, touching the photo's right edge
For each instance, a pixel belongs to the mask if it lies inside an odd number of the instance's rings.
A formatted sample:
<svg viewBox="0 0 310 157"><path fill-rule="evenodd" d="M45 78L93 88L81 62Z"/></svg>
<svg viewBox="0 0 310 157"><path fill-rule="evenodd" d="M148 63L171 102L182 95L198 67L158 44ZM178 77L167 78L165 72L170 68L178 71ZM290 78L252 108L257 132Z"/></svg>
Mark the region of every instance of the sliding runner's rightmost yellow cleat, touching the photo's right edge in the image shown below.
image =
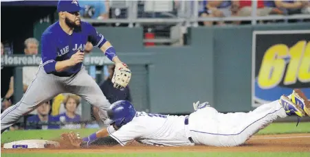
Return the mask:
<svg viewBox="0 0 310 157"><path fill-rule="evenodd" d="M291 94L291 101L300 106L300 108L310 117L310 101L300 89L294 89Z"/></svg>

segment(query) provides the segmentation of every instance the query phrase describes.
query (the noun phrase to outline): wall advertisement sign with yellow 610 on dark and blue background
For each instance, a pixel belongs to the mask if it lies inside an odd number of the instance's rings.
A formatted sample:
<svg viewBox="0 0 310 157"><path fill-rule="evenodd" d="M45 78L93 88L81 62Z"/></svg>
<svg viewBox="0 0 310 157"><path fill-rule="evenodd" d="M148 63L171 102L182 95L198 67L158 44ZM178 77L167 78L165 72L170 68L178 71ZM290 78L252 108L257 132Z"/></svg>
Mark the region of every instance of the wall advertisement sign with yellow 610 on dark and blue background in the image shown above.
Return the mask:
<svg viewBox="0 0 310 157"><path fill-rule="evenodd" d="M310 30L254 31L252 107L300 88L310 99Z"/></svg>

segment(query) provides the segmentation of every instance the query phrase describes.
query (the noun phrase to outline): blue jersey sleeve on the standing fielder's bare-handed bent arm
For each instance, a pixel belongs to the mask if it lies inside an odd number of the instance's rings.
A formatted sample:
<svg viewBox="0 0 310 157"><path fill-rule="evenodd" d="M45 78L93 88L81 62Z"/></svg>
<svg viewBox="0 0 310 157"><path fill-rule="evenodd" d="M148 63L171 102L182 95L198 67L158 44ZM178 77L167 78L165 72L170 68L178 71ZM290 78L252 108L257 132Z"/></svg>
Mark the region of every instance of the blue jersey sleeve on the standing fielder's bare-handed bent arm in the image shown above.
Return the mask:
<svg viewBox="0 0 310 157"><path fill-rule="evenodd" d="M52 34L43 34L41 38L43 68L47 74L56 71L57 49Z"/></svg>

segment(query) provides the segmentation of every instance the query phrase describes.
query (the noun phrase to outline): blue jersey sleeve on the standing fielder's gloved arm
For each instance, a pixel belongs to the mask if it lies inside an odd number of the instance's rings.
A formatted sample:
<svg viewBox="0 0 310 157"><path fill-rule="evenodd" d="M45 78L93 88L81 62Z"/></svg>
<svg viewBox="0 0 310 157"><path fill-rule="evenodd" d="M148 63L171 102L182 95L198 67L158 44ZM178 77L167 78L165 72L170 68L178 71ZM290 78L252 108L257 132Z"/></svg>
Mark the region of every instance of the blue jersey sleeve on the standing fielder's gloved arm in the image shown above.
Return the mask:
<svg viewBox="0 0 310 157"><path fill-rule="evenodd" d="M91 42L91 44L98 48L102 47L102 45L104 45L104 43L106 43L107 40L104 38L104 36L102 36L102 34L98 33L95 27L93 27L91 24L89 23L85 24L87 32L89 32L88 39Z"/></svg>

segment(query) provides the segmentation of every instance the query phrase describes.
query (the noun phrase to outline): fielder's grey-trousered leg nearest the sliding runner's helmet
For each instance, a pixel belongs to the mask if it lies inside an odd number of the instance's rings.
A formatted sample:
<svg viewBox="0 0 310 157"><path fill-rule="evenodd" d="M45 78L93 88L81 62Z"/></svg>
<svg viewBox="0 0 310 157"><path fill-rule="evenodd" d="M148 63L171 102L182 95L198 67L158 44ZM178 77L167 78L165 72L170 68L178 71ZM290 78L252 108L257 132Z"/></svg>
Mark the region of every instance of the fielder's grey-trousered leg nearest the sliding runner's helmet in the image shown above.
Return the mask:
<svg viewBox="0 0 310 157"><path fill-rule="evenodd" d="M67 82L67 90L84 98L89 104L97 106L100 110L100 118L106 118L106 110L111 106L95 80L82 68L71 80ZM102 119L104 120L104 119Z"/></svg>

